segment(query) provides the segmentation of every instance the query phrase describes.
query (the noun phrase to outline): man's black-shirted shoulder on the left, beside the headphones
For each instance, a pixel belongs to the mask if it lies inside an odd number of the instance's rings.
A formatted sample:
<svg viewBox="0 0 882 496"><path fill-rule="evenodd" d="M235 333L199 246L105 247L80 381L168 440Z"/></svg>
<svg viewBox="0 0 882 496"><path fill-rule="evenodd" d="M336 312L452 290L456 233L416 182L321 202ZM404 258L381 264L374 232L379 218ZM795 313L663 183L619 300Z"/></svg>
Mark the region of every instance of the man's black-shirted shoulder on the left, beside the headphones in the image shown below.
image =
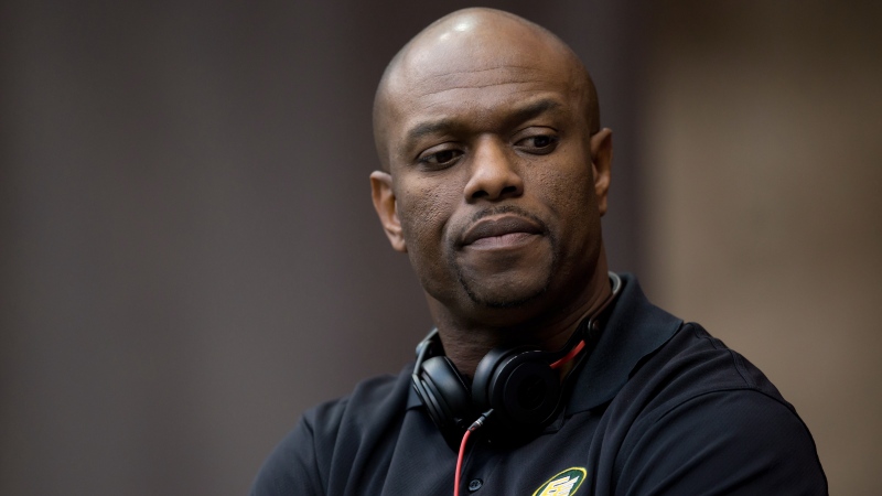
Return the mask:
<svg viewBox="0 0 882 496"><path fill-rule="evenodd" d="M407 371L364 380L351 395L303 413L263 462L251 495L326 494L333 465L344 466L372 432L404 416Z"/></svg>

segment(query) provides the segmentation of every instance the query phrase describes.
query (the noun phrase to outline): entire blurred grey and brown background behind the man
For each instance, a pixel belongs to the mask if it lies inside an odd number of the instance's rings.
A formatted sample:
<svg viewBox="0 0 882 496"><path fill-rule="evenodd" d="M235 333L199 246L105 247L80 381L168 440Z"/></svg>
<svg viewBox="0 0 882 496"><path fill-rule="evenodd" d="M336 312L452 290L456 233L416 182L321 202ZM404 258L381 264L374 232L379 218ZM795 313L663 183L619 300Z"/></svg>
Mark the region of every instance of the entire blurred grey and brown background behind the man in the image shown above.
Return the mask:
<svg viewBox="0 0 882 496"><path fill-rule="evenodd" d="M882 492L882 9L485 2L587 62L614 270L763 368ZM0 2L0 494L245 494L430 321L370 104L465 2Z"/></svg>

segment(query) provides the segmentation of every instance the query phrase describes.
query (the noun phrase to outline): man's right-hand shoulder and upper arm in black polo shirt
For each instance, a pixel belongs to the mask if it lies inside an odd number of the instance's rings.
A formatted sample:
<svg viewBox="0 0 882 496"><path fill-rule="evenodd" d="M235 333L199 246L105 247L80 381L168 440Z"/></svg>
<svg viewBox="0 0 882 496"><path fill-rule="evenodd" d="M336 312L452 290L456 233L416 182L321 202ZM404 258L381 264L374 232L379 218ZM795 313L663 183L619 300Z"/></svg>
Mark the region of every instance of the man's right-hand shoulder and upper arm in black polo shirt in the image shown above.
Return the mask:
<svg viewBox="0 0 882 496"><path fill-rule="evenodd" d="M685 324L646 357L622 392L636 401L617 461L624 493L827 492L814 440L793 406L698 324Z"/></svg>

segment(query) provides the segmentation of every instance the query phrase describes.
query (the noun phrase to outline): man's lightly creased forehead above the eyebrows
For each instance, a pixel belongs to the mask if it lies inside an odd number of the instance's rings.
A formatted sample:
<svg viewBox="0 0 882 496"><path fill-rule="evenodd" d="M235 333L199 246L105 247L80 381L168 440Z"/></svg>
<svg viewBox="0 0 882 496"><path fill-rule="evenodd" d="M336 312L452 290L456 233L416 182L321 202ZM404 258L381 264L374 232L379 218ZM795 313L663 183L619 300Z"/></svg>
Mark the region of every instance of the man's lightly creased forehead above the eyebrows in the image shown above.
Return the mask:
<svg viewBox="0 0 882 496"><path fill-rule="evenodd" d="M528 100L579 107L579 66L548 40L533 33L450 34L434 35L406 52L389 74L385 100L390 131L430 116L490 118Z"/></svg>

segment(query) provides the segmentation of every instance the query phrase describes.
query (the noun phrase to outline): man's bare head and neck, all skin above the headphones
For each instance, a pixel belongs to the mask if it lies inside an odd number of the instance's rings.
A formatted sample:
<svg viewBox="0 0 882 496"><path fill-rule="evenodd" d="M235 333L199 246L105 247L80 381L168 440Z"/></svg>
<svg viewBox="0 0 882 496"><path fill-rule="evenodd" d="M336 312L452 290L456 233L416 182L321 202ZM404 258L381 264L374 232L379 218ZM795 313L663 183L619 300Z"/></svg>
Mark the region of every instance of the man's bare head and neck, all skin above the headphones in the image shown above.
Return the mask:
<svg viewBox="0 0 882 496"><path fill-rule="evenodd" d="M504 342L560 348L609 296L612 133L555 35L491 9L442 18L389 64L374 130L374 205L461 373Z"/></svg>

